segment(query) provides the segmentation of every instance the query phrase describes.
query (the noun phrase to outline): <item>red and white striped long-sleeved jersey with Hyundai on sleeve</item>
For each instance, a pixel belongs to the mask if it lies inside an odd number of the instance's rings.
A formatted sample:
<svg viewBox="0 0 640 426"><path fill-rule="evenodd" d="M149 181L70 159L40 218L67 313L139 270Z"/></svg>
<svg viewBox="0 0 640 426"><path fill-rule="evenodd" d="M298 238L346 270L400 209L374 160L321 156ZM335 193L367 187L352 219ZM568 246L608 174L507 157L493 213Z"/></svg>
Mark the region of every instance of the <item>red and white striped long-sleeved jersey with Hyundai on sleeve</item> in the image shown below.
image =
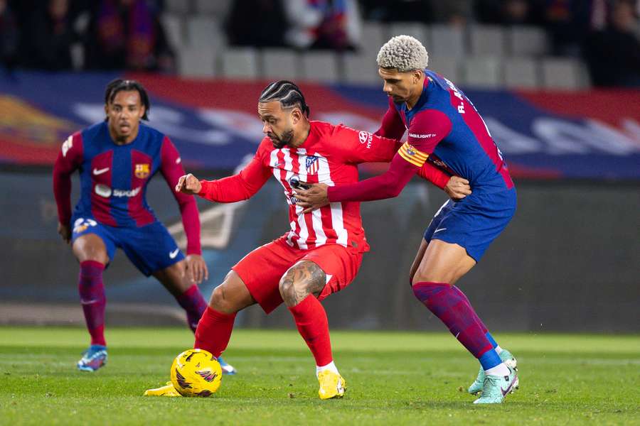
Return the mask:
<svg viewBox="0 0 640 426"><path fill-rule="evenodd" d="M368 251L359 202L332 202L302 214L295 204L292 178L329 186L358 182L358 163L388 163L400 143L346 126L310 121L309 137L298 148L274 148L262 139L255 157L238 175L203 180L199 195L217 202L247 200L273 175L284 189L289 204L291 230L285 235L290 246L302 250L324 244L351 246Z"/></svg>

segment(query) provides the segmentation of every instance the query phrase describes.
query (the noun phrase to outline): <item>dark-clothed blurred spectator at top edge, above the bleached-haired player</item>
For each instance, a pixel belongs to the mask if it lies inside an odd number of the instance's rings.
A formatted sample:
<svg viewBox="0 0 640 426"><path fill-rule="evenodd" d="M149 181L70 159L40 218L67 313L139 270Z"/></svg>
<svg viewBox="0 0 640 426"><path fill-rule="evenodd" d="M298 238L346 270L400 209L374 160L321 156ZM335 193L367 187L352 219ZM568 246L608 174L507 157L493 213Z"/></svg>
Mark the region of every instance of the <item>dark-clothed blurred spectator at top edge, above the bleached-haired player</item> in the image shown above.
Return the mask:
<svg viewBox="0 0 640 426"><path fill-rule="evenodd" d="M430 23L434 20L432 0L362 0L361 4L368 21Z"/></svg>

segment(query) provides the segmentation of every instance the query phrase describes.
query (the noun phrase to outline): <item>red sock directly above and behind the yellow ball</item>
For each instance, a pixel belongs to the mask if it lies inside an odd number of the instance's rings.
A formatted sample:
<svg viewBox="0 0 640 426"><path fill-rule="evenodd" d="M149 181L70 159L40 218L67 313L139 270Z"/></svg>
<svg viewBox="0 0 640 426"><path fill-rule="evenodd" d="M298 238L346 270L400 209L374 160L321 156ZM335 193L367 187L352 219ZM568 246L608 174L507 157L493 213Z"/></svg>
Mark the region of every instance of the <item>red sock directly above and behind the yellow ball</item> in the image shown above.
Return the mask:
<svg viewBox="0 0 640 426"><path fill-rule="evenodd" d="M210 351L216 358L227 349L235 314L223 314L208 306L196 328L194 349Z"/></svg>

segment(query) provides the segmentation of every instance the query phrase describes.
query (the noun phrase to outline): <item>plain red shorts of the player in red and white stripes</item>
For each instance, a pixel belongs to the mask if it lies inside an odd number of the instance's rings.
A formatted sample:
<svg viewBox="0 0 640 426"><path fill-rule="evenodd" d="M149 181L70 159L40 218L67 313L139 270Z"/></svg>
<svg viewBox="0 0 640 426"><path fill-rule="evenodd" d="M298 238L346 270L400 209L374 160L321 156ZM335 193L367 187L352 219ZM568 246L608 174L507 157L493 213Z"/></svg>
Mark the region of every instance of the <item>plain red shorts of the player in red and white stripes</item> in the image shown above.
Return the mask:
<svg viewBox="0 0 640 426"><path fill-rule="evenodd" d="M316 249L300 250L289 246L284 238L260 246L231 268L240 275L249 293L267 314L282 303L280 278L295 263L311 261L326 274L327 283L318 300L345 288L356 278L362 262L362 253L338 244L327 244Z"/></svg>

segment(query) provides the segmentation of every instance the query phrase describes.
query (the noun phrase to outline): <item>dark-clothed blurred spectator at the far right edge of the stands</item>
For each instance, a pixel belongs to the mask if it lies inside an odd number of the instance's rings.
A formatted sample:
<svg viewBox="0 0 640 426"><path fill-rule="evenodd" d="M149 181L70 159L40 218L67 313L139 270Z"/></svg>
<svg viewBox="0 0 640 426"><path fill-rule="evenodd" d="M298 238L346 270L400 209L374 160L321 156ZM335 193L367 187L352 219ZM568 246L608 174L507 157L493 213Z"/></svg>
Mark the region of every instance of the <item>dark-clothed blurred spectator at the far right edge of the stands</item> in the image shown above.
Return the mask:
<svg viewBox="0 0 640 426"><path fill-rule="evenodd" d="M614 3L609 26L592 33L585 43L585 59L596 86L640 87L640 41L634 2Z"/></svg>

